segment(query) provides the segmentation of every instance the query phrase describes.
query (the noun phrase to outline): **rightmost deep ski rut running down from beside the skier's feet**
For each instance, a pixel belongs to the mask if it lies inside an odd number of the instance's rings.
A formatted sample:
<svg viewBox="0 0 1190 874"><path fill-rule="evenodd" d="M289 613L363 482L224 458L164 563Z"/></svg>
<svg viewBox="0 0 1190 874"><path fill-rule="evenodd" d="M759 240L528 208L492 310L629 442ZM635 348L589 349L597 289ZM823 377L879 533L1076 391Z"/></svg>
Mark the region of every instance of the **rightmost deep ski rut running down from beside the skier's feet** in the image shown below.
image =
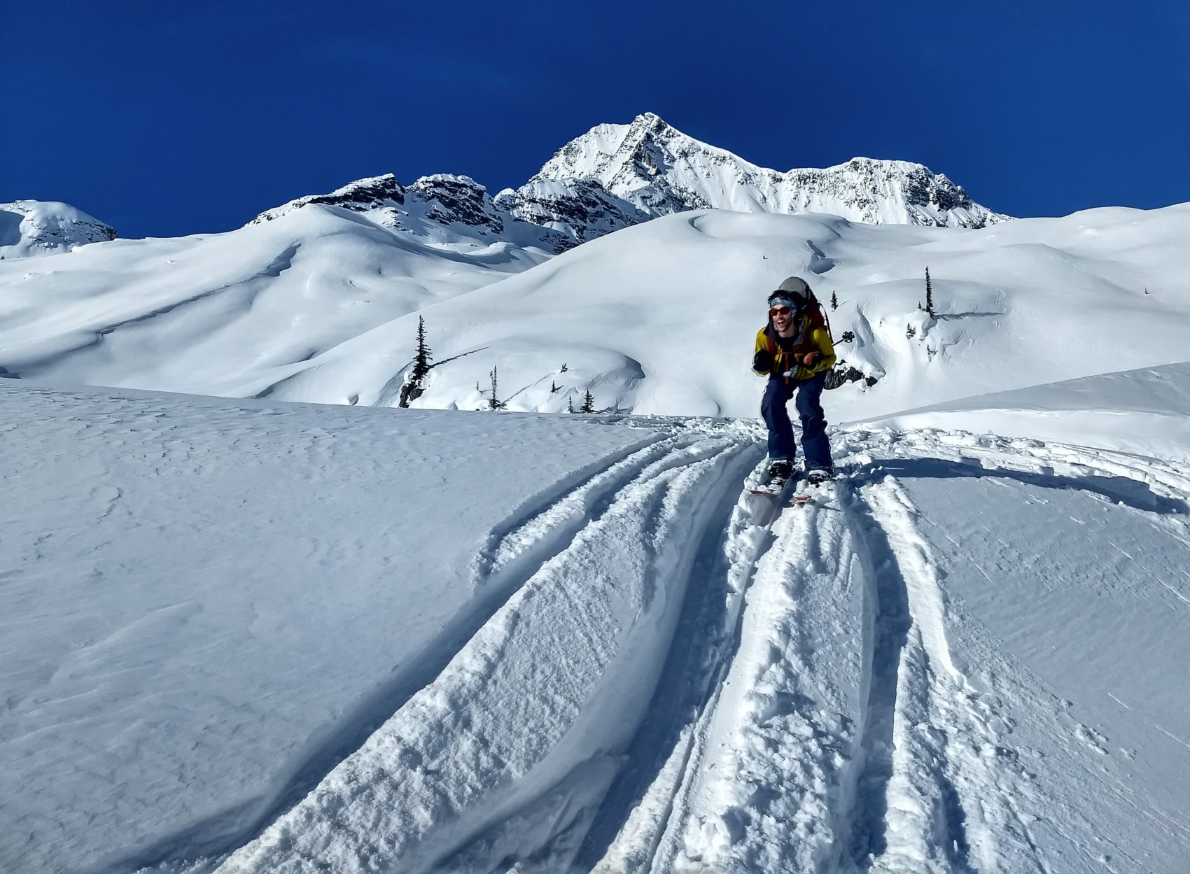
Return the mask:
<svg viewBox="0 0 1190 874"><path fill-rule="evenodd" d="M1036 847L1021 823L1009 822L1016 788L1002 788L988 765L996 738L952 660L945 598L915 510L892 478L846 503L866 553L868 628L840 867L850 855L857 868L882 872L1027 870ZM1023 832L1023 851L1004 840L1014 832Z"/></svg>

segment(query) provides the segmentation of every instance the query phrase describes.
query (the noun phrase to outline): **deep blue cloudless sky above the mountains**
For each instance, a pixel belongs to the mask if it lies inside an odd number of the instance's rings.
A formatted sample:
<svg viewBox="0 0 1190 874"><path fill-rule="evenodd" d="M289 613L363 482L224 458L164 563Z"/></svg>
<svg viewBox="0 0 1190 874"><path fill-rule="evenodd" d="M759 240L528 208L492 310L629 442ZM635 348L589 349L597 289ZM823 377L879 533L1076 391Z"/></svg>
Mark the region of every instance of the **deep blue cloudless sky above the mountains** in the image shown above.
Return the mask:
<svg viewBox="0 0 1190 874"><path fill-rule="evenodd" d="M985 206L1190 201L1190 5L154 0L0 7L0 202L124 237L351 180L525 182L640 112L764 166L916 161Z"/></svg>

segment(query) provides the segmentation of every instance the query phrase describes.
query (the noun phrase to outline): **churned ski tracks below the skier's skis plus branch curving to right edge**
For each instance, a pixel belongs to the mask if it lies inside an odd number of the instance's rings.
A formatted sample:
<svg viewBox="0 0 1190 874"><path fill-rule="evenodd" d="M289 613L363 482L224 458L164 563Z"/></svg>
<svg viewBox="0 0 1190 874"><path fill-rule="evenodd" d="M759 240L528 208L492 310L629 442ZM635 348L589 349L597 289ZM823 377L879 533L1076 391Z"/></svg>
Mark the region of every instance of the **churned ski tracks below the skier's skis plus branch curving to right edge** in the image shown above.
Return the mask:
<svg viewBox="0 0 1190 874"><path fill-rule="evenodd" d="M732 633L703 665L712 690L672 732L597 874L1061 869L1035 834L1044 790L1001 698L947 642L917 511L870 453L1079 488L1183 542L1190 483L1160 461L1034 440L856 432L843 442L851 479L837 484L838 505L787 508L764 524L741 497L719 572ZM1095 869L1110 870L1107 859Z"/></svg>

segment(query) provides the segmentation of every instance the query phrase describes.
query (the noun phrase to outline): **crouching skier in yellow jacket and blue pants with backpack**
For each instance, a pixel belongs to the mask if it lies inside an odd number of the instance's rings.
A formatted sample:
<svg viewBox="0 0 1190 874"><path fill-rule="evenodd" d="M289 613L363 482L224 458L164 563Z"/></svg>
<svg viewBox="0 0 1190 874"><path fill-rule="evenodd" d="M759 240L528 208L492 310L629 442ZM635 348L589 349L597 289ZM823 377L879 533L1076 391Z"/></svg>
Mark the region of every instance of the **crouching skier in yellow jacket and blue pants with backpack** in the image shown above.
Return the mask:
<svg viewBox="0 0 1190 874"><path fill-rule="evenodd" d="M810 287L801 277L790 276L769 295L769 323L756 335L752 357L752 370L769 377L760 415L769 426L769 477L774 485L783 485L794 473L797 446L785 404L795 392L802 419L806 478L810 485L819 485L834 477L820 401L834 360L834 344Z"/></svg>

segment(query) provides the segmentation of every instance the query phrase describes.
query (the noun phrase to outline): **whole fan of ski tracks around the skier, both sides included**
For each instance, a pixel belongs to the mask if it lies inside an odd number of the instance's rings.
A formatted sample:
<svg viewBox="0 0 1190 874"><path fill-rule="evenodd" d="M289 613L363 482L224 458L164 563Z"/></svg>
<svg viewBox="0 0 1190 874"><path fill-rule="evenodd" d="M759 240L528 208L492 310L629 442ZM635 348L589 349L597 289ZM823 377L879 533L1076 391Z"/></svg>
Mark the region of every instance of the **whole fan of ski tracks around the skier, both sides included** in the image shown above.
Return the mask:
<svg viewBox="0 0 1190 874"><path fill-rule="evenodd" d="M433 675L217 870L1139 869L1039 813L1060 793L1004 697L1056 699L954 648L897 473L1083 489L1182 537L1185 479L1036 441L840 444L847 476L804 508L740 492L751 433L675 427L507 520ZM1100 746L1061 706L1045 729Z"/></svg>

